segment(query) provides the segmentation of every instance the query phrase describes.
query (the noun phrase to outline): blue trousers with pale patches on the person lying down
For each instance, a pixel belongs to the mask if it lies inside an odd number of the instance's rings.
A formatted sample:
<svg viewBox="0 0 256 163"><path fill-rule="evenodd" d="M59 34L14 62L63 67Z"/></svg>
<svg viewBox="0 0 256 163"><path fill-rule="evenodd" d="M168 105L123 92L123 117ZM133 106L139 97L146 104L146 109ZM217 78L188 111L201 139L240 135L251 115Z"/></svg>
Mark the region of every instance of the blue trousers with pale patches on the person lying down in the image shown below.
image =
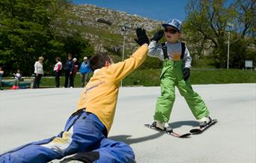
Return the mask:
<svg viewBox="0 0 256 163"><path fill-rule="evenodd" d="M0 156L1 163L50 162L74 153L99 153L94 162L134 162L132 148L106 138L106 127L94 114L77 111L59 135L25 144Z"/></svg>

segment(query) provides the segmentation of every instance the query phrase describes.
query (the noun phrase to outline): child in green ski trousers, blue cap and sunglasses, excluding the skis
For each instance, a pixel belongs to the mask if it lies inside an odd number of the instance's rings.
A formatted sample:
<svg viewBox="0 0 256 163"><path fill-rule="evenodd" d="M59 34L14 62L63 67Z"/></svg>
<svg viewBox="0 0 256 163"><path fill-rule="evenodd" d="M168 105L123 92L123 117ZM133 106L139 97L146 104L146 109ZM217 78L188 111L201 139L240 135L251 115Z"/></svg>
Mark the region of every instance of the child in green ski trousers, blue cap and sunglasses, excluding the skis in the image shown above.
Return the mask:
<svg viewBox="0 0 256 163"><path fill-rule="evenodd" d="M182 29L181 22L177 19L171 19L162 24L162 27L165 28L165 31L159 30L154 34L148 54L150 57L156 57L163 61L160 76L161 95L156 100L156 111L152 125L168 132L172 131L171 127L168 126L168 120L174 105L175 86L177 86L180 94L186 99L192 114L199 120L199 125L206 126L207 123L210 123L211 118L203 99L192 90L189 82L192 58L185 44L179 41ZM163 34L165 34L167 42L157 43Z"/></svg>

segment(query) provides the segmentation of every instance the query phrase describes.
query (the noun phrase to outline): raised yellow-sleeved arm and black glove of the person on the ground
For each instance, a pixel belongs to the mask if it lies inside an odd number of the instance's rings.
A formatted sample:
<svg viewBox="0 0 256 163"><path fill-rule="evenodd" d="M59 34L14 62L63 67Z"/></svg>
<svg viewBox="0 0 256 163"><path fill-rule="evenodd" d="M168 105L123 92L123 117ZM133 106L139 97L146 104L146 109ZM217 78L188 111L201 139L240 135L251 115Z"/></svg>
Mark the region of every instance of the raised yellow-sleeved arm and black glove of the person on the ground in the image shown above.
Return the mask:
<svg viewBox="0 0 256 163"><path fill-rule="evenodd" d="M136 29L137 39L135 41L141 46L139 47L130 58L119 62L118 64L112 64L109 68L114 72L114 78L116 82L120 82L124 77L132 73L137 69L143 61L147 58L148 43L147 34L144 29Z"/></svg>

